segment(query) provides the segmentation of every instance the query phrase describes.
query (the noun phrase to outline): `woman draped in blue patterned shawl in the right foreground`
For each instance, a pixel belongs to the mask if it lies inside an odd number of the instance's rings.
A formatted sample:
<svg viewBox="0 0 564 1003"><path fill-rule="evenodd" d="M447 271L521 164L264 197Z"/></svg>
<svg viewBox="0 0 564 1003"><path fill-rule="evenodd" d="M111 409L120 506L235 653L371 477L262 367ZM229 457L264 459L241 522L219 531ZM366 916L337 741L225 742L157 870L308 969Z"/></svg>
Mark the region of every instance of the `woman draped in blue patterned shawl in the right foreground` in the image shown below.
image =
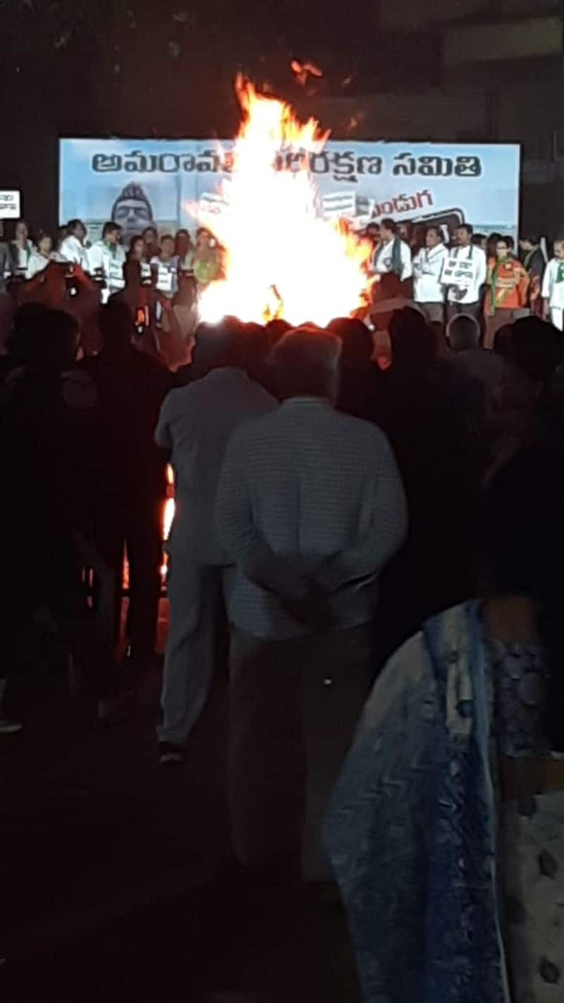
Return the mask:
<svg viewBox="0 0 564 1003"><path fill-rule="evenodd" d="M327 832L366 1003L561 997L563 505L555 457L500 471L484 598L429 620L365 708Z"/></svg>

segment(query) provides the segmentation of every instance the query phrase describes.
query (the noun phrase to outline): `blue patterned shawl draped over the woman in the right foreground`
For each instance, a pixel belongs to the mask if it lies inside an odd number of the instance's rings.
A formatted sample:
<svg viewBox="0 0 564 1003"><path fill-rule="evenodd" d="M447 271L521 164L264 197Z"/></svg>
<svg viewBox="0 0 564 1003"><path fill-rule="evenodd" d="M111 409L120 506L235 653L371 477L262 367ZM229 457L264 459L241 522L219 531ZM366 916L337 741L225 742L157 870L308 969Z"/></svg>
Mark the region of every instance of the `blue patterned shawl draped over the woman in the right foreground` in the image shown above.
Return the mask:
<svg viewBox="0 0 564 1003"><path fill-rule="evenodd" d="M509 1003L477 603L388 663L326 837L366 1003Z"/></svg>

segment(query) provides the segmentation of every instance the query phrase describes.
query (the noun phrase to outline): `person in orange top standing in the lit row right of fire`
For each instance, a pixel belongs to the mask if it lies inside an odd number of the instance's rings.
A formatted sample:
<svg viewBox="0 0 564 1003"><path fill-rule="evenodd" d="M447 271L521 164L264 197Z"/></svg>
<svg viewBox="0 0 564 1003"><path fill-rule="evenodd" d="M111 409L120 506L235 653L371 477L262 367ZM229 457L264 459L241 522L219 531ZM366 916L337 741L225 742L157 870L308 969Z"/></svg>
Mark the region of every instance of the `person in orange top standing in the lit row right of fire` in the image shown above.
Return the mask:
<svg viewBox="0 0 564 1003"><path fill-rule="evenodd" d="M528 312L529 277L521 262L513 257L514 247L512 237L500 237L495 258L490 258L488 262L485 348L494 347L494 338L500 327L511 324Z"/></svg>

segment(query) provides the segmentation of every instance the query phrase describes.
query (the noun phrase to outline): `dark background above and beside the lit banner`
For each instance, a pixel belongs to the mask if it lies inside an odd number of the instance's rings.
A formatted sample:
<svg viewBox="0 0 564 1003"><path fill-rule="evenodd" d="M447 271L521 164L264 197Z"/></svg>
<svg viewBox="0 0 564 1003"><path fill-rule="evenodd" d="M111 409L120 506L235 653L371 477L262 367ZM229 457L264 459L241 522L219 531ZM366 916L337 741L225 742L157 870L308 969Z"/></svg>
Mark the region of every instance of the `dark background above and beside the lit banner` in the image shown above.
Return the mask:
<svg viewBox="0 0 564 1003"><path fill-rule="evenodd" d="M390 0L0 0L0 188L21 189L32 228L52 230L59 136L230 135L238 120L232 80L242 70L301 114L319 116L336 138L523 142L526 225L554 233L562 53L529 57L525 46L509 61L454 66L448 48L453 25L482 26L486 41L500 22L532 37L523 18L564 15L564 4L397 0L398 16L394 7ZM301 86L294 58L316 62L323 78ZM457 102L460 115L452 111Z"/></svg>

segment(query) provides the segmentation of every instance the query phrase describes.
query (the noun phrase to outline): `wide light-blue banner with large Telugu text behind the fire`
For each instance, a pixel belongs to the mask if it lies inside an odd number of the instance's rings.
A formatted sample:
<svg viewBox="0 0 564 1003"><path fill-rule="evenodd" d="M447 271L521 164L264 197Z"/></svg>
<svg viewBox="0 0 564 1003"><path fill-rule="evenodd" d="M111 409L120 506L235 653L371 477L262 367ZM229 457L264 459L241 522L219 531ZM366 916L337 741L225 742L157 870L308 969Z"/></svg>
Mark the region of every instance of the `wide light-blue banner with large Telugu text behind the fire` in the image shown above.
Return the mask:
<svg viewBox="0 0 564 1003"><path fill-rule="evenodd" d="M154 223L160 233L197 227L224 206L232 141L210 139L61 139L60 220L82 219L90 240L106 220L124 242ZM462 222L482 233L517 237L520 148L515 144L341 142L309 153L318 212L361 229L371 220ZM291 170L296 152L278 154Z"/></svg>

